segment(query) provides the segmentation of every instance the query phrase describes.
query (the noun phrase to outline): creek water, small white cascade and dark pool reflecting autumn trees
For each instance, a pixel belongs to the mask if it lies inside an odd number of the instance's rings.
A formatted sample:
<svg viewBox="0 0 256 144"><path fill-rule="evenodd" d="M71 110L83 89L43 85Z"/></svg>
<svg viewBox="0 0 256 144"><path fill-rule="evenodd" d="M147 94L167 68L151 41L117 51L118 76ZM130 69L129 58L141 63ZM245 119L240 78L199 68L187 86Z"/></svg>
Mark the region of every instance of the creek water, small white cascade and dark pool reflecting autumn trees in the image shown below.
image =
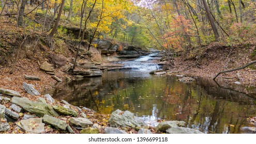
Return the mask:
<svg viewBox="0 0 256 144"><path fill-rule="evenodd" d="M149 125L157 125L157 119L182 120L204 133L248 133L246 128L253 127L247 117L256 116L255 97L211 79L183 83L176 76L150 75L159 68L154 55L118 62L131 70L64 83L52 95L103 114L129 110Z"/></svg>

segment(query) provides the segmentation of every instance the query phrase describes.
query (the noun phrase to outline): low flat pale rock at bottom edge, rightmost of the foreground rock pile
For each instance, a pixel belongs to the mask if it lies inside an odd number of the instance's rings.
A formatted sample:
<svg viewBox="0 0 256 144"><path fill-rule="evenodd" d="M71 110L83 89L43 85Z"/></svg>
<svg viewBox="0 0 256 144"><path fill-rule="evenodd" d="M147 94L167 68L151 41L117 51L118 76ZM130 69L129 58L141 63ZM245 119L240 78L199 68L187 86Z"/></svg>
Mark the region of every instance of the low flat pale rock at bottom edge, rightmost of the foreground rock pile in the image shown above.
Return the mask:
<svg viewBox="0 0 256 144"><path fill-rule="evenodd" d="M202 132L184 127L171 127L166 130L169 134L203 134Z"/></svg>

